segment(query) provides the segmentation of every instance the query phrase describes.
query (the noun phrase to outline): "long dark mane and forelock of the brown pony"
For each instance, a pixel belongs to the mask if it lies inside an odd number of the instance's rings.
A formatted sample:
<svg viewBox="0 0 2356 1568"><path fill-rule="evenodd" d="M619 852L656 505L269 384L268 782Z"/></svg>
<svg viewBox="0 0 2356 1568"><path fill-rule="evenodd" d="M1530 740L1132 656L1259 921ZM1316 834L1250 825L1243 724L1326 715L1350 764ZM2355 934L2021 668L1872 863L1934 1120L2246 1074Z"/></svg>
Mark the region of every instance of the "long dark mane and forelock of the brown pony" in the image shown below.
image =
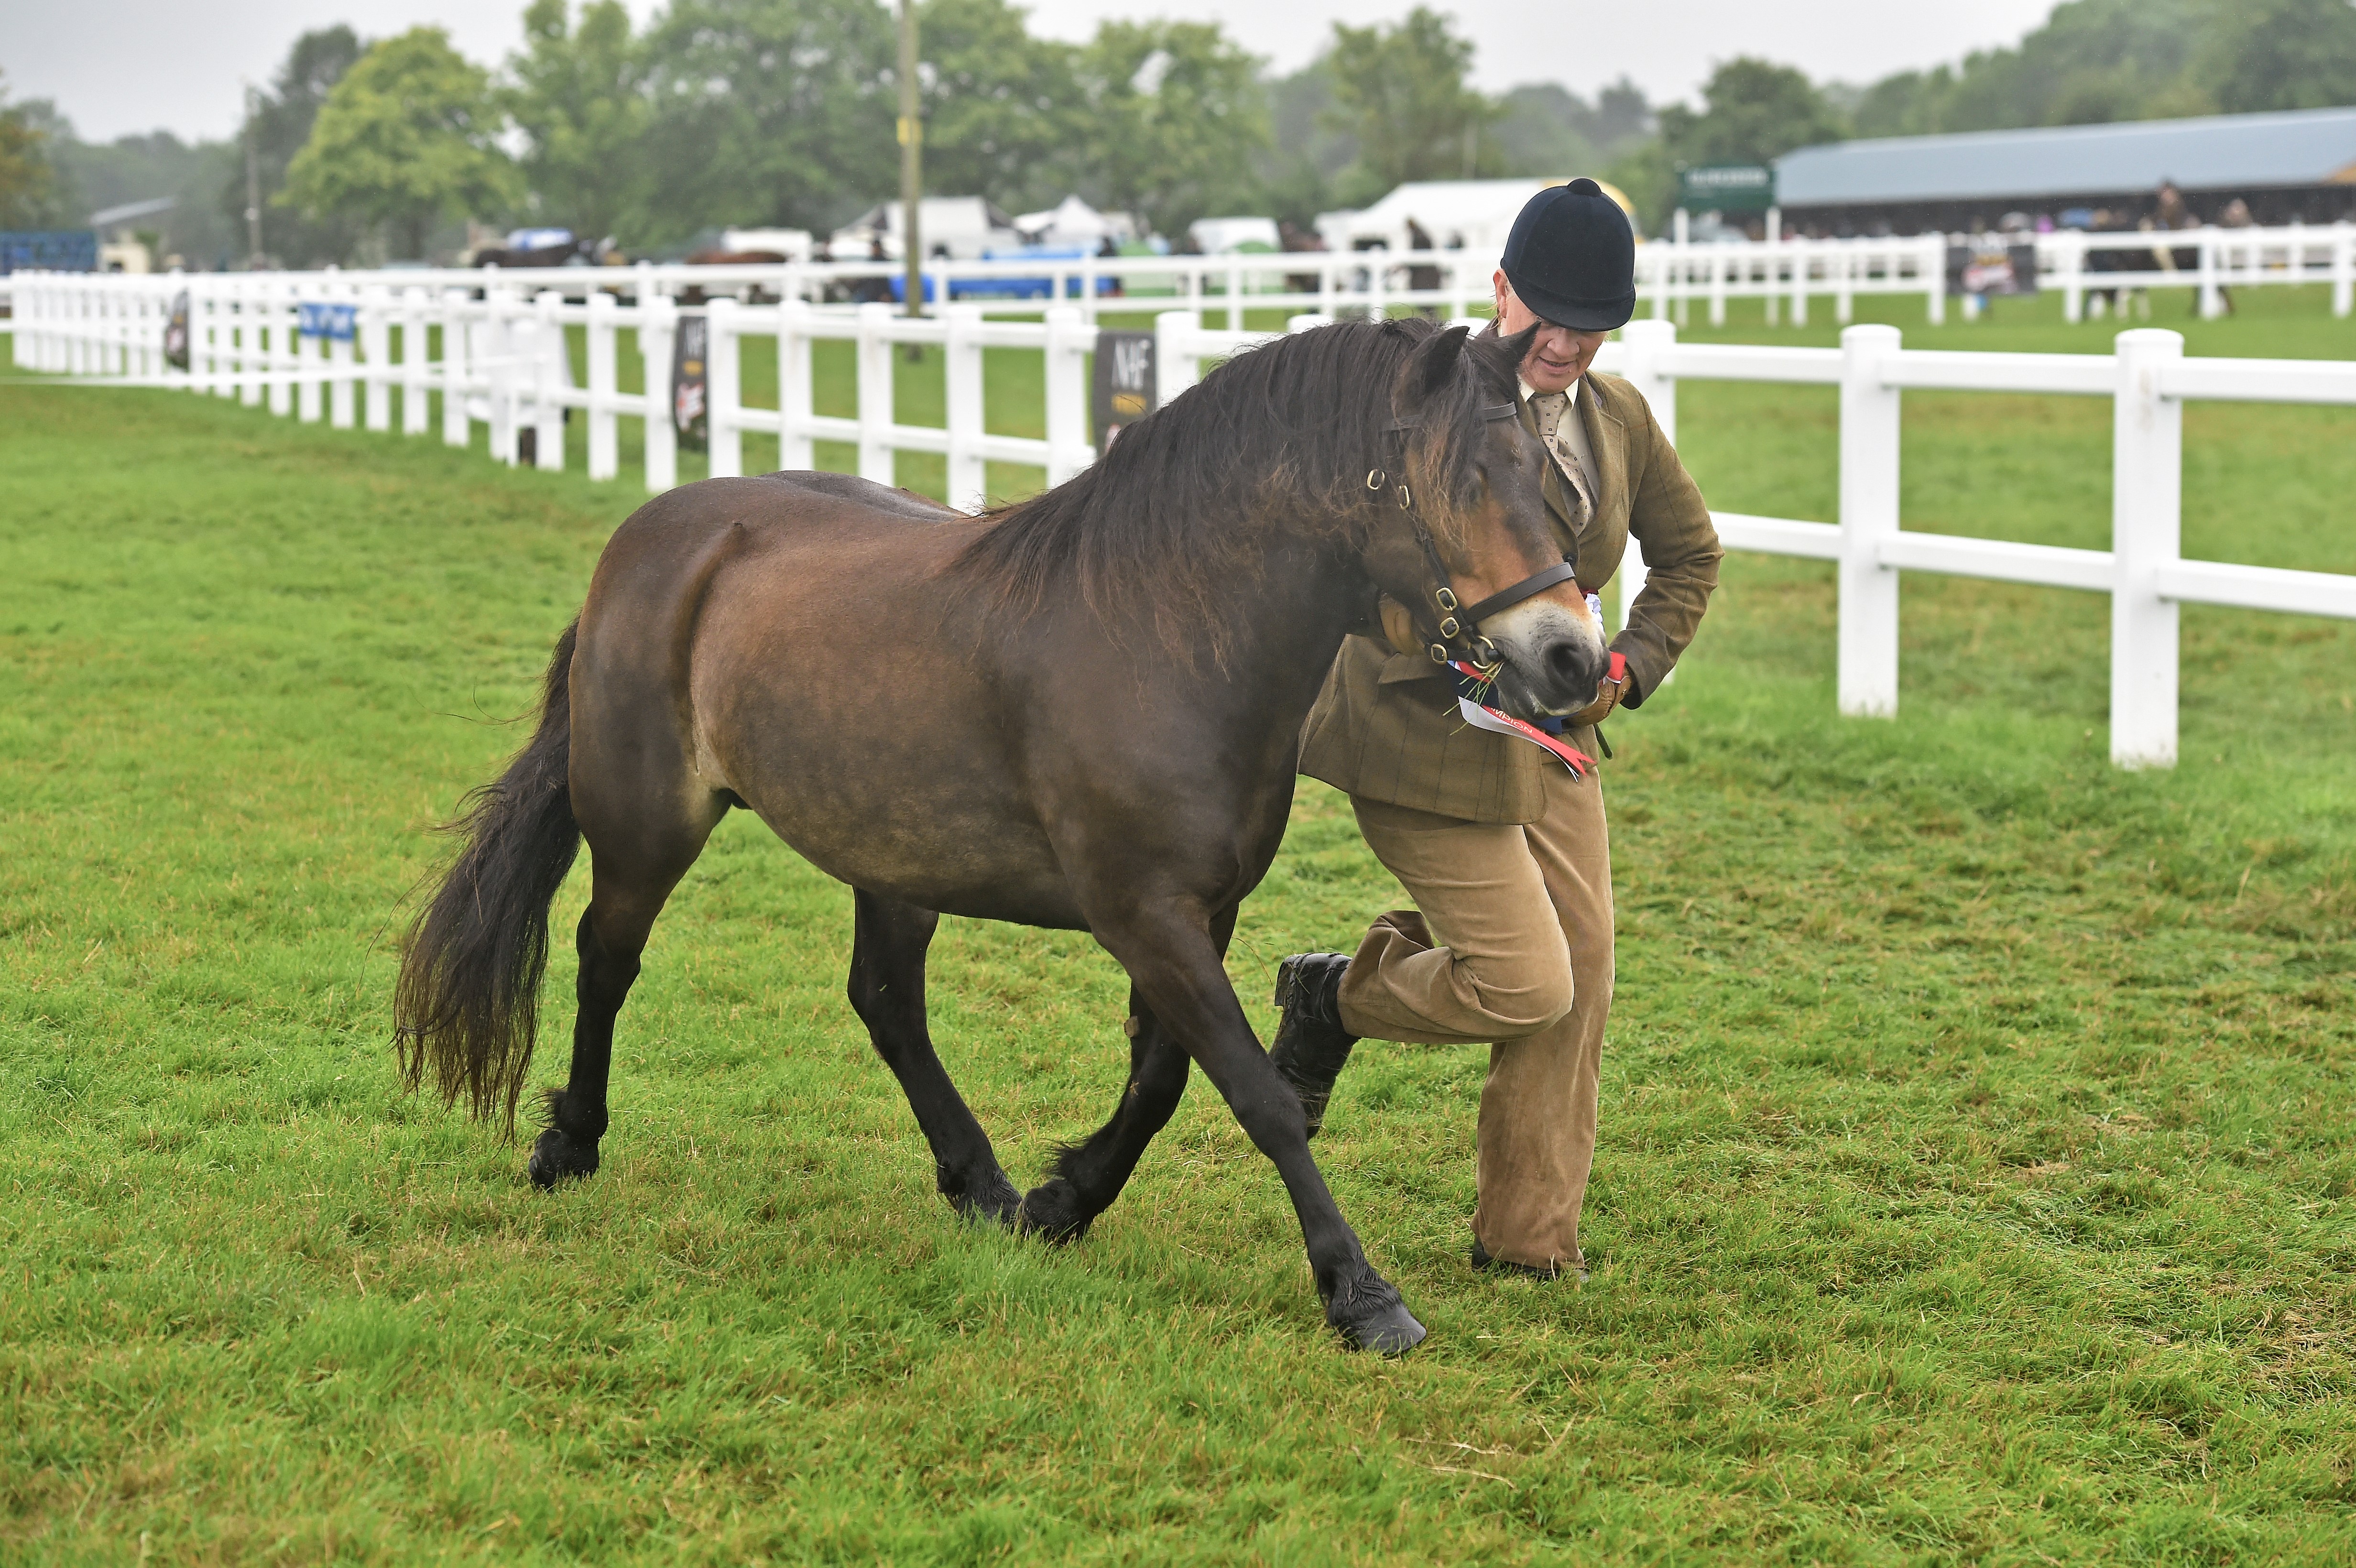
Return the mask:
<svg viewBox="0 0 2356 1568"><path fill-rule="evenodd" d="M1263 520L1357 542L1376 497L1366 469L1399 452L1392 393L1435 323L1345 320L1239 353L1121 431L1091 469L992 516L959 572L1004 607L1077 589L1100 617L1150 619L1171 645L1220 647L1220 586L1251 570ZM1456 374L1416 407L1407 438L1418 513L1435 537L1458 527L1480 410L1513 398L1522 337L1475 337Z"/></svg>

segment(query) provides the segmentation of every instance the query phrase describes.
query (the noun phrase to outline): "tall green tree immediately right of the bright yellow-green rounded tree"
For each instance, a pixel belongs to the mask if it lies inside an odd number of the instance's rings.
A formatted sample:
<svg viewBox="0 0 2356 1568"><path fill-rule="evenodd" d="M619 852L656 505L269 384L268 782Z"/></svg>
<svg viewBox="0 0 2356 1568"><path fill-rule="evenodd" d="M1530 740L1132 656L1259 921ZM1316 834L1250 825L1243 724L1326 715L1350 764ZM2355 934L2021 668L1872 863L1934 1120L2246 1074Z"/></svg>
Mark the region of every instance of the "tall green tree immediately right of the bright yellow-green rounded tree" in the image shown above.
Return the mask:
<svg viewBox="0 0 2356 1568"><path fill-rule="evenodd" d="M532 0L523 52L509 59L507 108L523 132L523 179L537 217L589 240L646 205L646 59L622 0L589 0L573 26L568 0Z"/></svg>

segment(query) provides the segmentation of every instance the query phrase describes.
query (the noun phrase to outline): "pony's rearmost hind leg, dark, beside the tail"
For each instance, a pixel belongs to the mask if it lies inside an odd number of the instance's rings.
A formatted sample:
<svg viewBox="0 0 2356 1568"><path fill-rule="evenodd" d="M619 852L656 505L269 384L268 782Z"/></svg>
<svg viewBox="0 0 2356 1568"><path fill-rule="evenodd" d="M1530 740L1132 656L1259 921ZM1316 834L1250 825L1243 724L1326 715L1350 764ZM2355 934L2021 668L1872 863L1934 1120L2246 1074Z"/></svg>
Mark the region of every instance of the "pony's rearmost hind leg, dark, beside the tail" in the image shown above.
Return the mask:
<svg viewBox="0 0 2356 1568"><path fill-rule="evenodd" d="M728 812L712 800L709 819L641 824L627 838L601 848L589 841L589 909L575 930L580 979L573 1012L573 1071L549 1092L549 1125L532 1144L530 1175L537 1187L584 1177L598 1165L605 1137L605 1078L613 1071L613 1024L638 979L638 954L671 888L702 855L712 829Z"/></svg>

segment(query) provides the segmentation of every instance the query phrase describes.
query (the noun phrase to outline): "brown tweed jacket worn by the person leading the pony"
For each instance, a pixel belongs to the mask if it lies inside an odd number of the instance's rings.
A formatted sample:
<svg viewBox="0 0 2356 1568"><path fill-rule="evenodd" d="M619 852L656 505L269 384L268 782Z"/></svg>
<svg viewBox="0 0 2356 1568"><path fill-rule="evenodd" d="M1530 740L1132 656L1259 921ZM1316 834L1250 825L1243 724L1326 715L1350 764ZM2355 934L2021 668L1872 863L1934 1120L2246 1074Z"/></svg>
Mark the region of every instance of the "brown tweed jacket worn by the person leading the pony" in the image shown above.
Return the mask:
<svg viewBox="0 0 2356 1568"><path fill-rule="evenodd" d="M1722 551L1710 509L1644 396L1619 377L1590 374L1586 384L1576 407L1595 452L1595 516L1574 530L1579 499L1555 464L1546 466L1546 509L1588 593L1602 593L1619 572L1630 534L1644 546L1644 591L1628 607L1628 629L1612 638L1612 650L1628 657L1621 704L1633 709L1694 640ZM1527 398L1522 424L1538 428ZM1593 751L1593 735L1586 742ZM1343 640L1301 727L1301 772L1352 796L1465 822L1536 822L1546 768L1562 763L1524 739L1468 725L1447 671L1428 657L1364 636Z"/></svg>

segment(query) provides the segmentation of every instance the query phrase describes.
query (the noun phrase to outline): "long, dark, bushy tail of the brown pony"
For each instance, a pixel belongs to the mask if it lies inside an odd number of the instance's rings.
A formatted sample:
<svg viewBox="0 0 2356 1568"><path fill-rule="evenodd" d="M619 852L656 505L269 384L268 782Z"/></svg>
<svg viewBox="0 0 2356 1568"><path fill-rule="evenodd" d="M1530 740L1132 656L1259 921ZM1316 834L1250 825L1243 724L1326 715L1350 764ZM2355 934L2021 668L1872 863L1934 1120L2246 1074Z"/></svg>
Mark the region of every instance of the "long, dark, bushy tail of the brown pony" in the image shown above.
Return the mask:
<svg viewBox="0 0 2356 1568"><path fill-rule="evenodd" d="M445 824L466 848L410 923L393 989L408 1085L431 1076L445 1104L464 1095L476 1118L499 1116L509 1135L540 1026L549 904L582 841L570 786L577 631L580 622L556 638L532 742Z"/></svg>

